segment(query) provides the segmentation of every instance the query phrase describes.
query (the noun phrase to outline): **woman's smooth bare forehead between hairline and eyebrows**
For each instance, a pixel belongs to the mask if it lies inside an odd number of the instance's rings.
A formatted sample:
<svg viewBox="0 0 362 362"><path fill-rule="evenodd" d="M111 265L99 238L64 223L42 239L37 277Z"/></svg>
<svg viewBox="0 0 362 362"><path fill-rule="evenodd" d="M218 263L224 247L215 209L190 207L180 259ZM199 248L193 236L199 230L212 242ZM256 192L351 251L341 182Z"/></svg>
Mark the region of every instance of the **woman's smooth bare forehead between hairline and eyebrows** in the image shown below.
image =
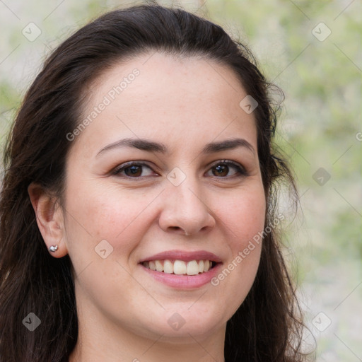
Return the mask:
<svg viewBox="0 0 362 362"><path fill-rule="evenodd" d="M239 105L247 95L243 86L233 70L212 59L149 52L107 69L90 89L83 119L91 124L81 138L93 144L116 141L118 134L167 143L170 134L202 141L238 132L256 142L254 116Z"/></svg>

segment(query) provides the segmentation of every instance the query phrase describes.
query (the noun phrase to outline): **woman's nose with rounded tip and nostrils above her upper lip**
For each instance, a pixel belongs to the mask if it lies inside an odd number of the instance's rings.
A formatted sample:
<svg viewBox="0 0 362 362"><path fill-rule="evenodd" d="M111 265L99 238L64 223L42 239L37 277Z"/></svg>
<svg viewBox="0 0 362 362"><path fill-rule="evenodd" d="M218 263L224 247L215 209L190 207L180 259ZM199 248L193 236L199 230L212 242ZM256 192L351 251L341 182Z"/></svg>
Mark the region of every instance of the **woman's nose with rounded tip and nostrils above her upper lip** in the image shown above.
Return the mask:
<svg viewBox="0 0 362 362"><path fill-rule="evenodd" d="M158 223L166 232L184 235L206 232L216 225L210 206L202 197L201 187L191 177L187 177L178 186L170 183L166 187Z"/></svg>

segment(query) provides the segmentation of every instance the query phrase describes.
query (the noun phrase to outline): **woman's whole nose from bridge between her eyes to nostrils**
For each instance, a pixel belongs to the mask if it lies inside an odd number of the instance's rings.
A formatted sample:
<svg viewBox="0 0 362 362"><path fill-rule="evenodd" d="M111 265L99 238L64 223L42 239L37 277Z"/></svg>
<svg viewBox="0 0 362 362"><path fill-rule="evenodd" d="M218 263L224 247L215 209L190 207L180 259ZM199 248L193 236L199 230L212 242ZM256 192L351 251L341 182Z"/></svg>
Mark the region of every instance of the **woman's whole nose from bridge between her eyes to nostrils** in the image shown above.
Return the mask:
<svg viewBox="0 0 362 362"><path fill-rule="evenodd" d="M206 226L214 226L214 218L202 197L202 185L196 175L173 170L168 175L166 189L160 215L161 228L181 228L191 235Z"/></svg>

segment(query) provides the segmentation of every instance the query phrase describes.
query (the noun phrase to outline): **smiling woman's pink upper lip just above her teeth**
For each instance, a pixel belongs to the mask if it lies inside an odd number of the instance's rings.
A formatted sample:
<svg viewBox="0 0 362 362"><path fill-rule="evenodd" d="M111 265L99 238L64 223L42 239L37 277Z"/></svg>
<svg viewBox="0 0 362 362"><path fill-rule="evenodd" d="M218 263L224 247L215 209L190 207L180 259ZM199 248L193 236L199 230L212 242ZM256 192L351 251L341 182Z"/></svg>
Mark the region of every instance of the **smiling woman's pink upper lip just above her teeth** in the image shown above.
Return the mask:
<svg viewBox="0 0 362 362"><path fill-rule="evenodd" d="M159 252L151 257L145 257L141 259L139 263L150 262L151 260L183 260L184 262L190 262L192 260L210 260L211 262L220 263L221 258L212 252L206 250L197 250L194 252L186 252L184 250L169 250L167 252ZM206 274L206 273L205 273ZM202 274L201 274L202 275Z"/></svg>

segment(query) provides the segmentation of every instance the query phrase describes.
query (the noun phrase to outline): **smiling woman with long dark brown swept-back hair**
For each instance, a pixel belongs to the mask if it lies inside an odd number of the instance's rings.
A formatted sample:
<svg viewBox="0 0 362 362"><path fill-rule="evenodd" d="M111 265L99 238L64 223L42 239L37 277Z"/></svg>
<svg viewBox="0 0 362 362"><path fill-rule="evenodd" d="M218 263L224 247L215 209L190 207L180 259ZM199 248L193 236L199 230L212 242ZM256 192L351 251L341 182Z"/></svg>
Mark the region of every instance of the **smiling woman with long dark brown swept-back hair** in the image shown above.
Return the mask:
<svg viewBox="0 0 362 362"><path fill-rule="evenodd" d="M4 153L1 361L304 361L250 52L134 6L45 62Z"/></svg>

